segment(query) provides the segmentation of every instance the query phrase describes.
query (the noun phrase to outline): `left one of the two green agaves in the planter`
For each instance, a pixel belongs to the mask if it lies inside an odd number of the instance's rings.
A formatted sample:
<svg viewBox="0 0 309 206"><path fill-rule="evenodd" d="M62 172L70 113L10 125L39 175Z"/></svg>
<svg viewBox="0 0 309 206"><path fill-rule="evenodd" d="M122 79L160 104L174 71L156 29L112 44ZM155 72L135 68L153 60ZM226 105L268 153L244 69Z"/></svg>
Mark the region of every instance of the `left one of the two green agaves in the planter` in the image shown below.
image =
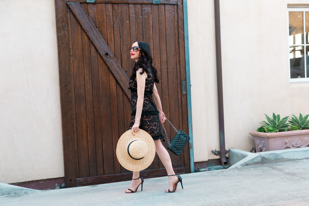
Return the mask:
<svg viewBox="0 0 309 206"><path fill-rule="evenodd" d="M268 117L266 114L267 122L262 121L260 124L265 126L265 131L268 133L271 132L279 132L279 131L287 131L287 128L290 126L289 123L286 123L289 116L280 119L280 115L276 115L273 113L273 118Z"/></svg>

